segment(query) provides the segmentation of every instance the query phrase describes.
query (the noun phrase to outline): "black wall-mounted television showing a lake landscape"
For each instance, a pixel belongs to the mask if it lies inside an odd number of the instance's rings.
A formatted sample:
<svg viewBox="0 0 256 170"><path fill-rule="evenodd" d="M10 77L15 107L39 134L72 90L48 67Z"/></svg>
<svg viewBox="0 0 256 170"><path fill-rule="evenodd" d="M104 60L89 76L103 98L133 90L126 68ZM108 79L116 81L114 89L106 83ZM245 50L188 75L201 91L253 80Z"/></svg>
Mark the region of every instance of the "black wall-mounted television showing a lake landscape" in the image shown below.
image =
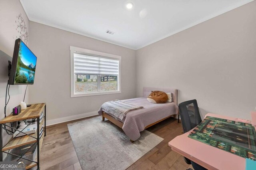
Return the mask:
<svg viewBox="0 0 256 170"><path fill-rule="evenodd" d="M8 84L34 84L37 57L21 39L16 39Z"/></svg>

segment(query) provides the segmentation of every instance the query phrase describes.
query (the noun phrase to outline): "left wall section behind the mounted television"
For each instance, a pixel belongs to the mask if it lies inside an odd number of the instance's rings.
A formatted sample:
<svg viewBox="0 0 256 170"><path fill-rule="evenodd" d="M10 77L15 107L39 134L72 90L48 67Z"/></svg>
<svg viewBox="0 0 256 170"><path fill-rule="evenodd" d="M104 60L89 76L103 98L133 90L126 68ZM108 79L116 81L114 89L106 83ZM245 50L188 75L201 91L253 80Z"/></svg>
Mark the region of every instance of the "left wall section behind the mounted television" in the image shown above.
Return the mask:
<svg viewBox="0 0 256 170"><path fill-rule="evenodd" d="M4 118L6 84L8 81L8 60L12 61L14 43L20 38L18 15L21 14L28 31L28 18L19 0L0 0L0 119ZM28 43L26 43L28 45ZM12 108L23 101L26 86L10 86L10 101L6 107L6 115ZM28 95L25 102L28 101ZM4 143L10 138L4 131Z"/></svg>

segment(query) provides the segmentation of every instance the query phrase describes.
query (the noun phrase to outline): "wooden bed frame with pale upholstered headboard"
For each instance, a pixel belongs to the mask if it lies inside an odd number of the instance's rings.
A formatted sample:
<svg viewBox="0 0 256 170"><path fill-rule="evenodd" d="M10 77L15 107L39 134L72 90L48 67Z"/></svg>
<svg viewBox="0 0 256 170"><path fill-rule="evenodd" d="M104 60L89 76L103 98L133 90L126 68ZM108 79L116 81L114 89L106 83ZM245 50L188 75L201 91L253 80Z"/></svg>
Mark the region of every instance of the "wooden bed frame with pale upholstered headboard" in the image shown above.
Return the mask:
<svg viewBox="0 0 256 170"><path fill-rule="evenodd" d="M177 96L178 96L178 90L176 90L176 89L169 89L169 88L143 88L143 97L147 97L149 94L150 94L150 92L151 91L156 91L156 90L160 90L160 91L163 91L163 92L172 92L172 98L173 98L173 102L178 106L178 104L177 104L177 100L178 100L178 98L177 98ZM179 113L178 113L178 115L179 115ZM177 116L177 114L175 114L175 115L170 115L170 116L168 116L168 117L165 117L164 119L161 119L161 120L159 120L159 121L156 121L156 122L154 122L154 123L152 123L152 124L150 124L150 125L148 125L148 126L146 126L145 127L145 129L147 129L148 127L151 127L151 126L153 126L153 125L155 125L156 123L159 123L160 121L163 121L163 120L165 120L165 119L168 119L169 117L176 117ZM122 122L122 121L119 121L119 120L117 120L115 117L112 117L111 115L109 115L109 114L107 114L107 113L105 113L104 111L102 111L102 121L104 121L105 120L105 117L109 120L109 121L111 121L112 123L114 123L115 125L117 125L118 127L120 127L121 129L122 129L122 127L123 127L123 125L124 125L124 123ZM180 122L180 120L178 119L178 123ZM133 143L134 141L132 141L131 139L130 139L130 141Z"/></svg>

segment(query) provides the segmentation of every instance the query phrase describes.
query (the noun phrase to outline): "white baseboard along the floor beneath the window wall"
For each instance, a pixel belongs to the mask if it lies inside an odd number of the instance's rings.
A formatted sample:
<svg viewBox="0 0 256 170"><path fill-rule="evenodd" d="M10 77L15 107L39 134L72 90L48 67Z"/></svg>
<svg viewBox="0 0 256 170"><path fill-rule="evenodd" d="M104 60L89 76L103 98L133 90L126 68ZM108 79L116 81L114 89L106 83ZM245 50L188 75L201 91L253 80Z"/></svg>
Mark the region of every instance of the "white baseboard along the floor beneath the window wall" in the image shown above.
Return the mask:
<svg viewBox="0 0 256 170"><path fill-rule="evenodd" d="M66 122L66 121L81 119L81 118L84 118L84 117L90 117L90 116L94 116L94 115L98 115L98 111L92 111L92 112L88 112L88 113L82 113L80 115L72 115L72 116L68 116L68 117L61 117L61 118L58 118L58 119L48 120L48 121L46 121L46 126L55 125L55 124L63 123L63 122Z"/></svg>

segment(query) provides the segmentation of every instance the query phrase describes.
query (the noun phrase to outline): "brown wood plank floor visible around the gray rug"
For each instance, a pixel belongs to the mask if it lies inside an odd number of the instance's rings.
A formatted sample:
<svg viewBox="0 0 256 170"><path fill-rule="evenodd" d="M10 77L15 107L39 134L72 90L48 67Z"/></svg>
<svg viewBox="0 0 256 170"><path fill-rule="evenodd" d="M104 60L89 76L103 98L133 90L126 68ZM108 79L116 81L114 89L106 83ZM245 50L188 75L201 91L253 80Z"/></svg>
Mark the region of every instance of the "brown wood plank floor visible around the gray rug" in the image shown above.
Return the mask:
<svg viewBox="0 0 256 170"><path fill-rule="evenodd" d="M95 116L93 116L95 117ZM89 119L84 118L84 119ZM84 120L78 119L47 127L40 153L40 170L80 170L76 151L74 149L68 123ZM176 119L168 118L152 127L148 131L162 137L164 140L142 156L127 170L186 170L192 166L186 164L183 157L172 151L168 142L182 134L182 124Z"/></svg>

